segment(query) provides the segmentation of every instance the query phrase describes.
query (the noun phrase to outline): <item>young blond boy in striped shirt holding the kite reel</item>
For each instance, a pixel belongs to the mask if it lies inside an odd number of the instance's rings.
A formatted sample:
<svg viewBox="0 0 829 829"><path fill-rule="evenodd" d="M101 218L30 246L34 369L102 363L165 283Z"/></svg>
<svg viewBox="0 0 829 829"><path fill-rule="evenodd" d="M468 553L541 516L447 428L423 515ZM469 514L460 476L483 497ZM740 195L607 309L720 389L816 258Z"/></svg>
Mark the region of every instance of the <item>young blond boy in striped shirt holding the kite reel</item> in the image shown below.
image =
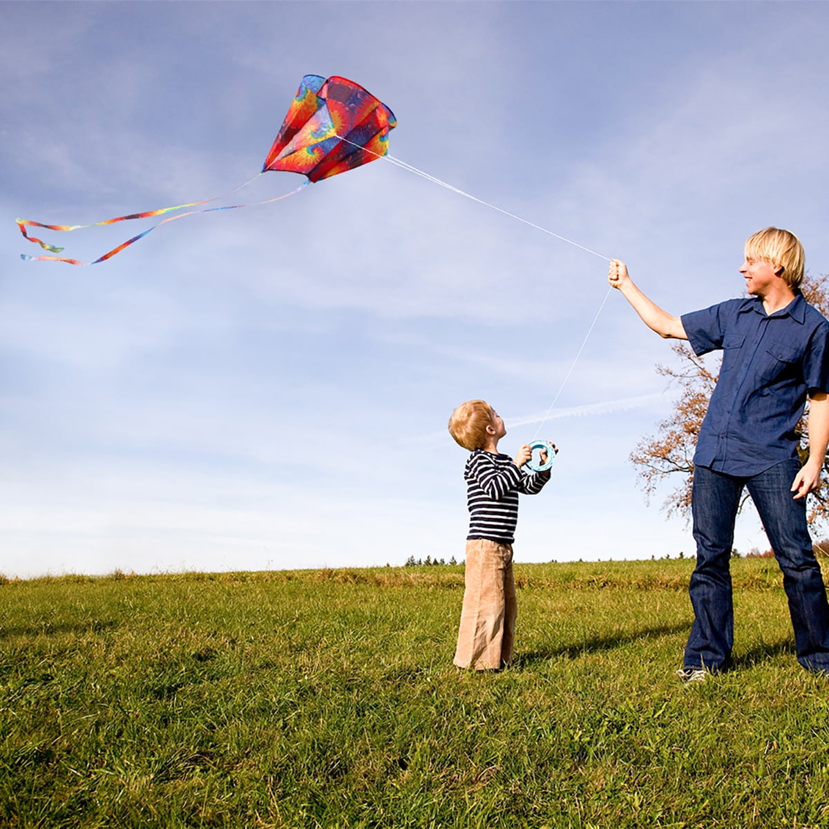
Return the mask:
<svg viewBox="0 0 829 829"><path fill-rule="evenodd" d="M468 483L469 535L454 663L459 668L497 671L511 662L515 637L512 542L518 521L518 493L541 492L550 480L550 471L529 475L521 472L531 458L529 446L522 446L514 459L498 452L498 441L507 429L484 400L459 405L449 418L449 434L472 452L463 471ZM546 459L542 452L542 462Z"/></svg>

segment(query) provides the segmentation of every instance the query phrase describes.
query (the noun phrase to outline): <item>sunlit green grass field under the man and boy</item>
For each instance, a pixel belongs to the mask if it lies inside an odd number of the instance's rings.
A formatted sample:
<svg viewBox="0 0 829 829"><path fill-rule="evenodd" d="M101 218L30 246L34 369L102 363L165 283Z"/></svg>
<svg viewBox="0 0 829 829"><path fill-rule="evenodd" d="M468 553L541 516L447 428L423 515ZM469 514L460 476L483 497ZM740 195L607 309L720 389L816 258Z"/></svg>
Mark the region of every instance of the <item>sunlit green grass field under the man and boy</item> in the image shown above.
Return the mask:
<svg viewBox="0 0 829 829"><path fill-rule="evenodd" d="M516 565L483 675L460 566L4 580L0 826L826 827L777 565L734 561L735 669L683 686L691 567Z"/></svg>

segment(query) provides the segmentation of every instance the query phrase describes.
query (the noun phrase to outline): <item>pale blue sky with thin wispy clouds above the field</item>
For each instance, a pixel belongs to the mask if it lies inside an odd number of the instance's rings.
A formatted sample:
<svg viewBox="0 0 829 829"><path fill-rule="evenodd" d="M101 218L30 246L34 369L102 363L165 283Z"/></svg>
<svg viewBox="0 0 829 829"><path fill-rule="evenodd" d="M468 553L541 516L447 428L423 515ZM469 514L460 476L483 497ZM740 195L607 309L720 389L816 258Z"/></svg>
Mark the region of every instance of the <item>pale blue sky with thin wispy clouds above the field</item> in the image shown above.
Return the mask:
<svg viewBox="0 0 829 829"><path fill-rule="evenodd" d="M0 573L463 555L453 407L534 437L607 264L389 162L190 216L104 264L85 224L255 176L299 80L394 110L395 158L625 259L671 313L739 296L744 239L829 272L825 2L3 2ZM292 190L271 172L232 201ZM42 231L95 259L152 221ZM608 298L542 436L516 560L671 557L628 454L670 347ZM765 549L757 519L735 544Z"/></svg>

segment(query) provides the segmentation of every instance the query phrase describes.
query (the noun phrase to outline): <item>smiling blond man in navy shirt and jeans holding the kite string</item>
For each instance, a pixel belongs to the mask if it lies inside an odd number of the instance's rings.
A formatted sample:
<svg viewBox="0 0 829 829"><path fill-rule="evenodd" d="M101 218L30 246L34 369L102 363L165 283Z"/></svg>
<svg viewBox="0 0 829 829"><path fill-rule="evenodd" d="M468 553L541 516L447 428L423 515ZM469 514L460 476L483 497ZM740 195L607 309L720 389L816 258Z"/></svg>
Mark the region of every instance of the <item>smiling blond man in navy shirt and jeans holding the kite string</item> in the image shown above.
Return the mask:
<svg viewBox="0 0 829 829"><path fill-rule="evenodd" d="M829 322L800 293L803 249L769 227L745 243L740 273L749 298L673 317L613 259L608 280L661 337L688 340L697 355L721 349L720 377L694 455L691 496L696 568L694 624L677 674L686 681L729 667L734 644L730 556L743 488L783 570L797 661L829 673L829 604L812 551L806 496L820 485L829 444ZM809 459L795 427L809 400Z"/></svg>

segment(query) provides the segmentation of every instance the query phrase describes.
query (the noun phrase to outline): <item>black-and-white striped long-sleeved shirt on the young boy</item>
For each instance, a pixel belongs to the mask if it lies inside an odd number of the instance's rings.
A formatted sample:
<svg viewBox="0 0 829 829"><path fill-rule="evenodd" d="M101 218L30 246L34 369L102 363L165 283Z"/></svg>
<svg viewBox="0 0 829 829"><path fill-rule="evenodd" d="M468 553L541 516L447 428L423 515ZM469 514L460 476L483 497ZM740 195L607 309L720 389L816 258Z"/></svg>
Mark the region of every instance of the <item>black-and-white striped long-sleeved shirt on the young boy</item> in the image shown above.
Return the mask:
<svg viewBox="0 0 829 829"><path fill-rule="evenodd" d="M476 449L463 470L468 484L469 535L499 544L515 541L518 493L536 495L550 480L550 470L526 474L509 455Z"/></svg>

